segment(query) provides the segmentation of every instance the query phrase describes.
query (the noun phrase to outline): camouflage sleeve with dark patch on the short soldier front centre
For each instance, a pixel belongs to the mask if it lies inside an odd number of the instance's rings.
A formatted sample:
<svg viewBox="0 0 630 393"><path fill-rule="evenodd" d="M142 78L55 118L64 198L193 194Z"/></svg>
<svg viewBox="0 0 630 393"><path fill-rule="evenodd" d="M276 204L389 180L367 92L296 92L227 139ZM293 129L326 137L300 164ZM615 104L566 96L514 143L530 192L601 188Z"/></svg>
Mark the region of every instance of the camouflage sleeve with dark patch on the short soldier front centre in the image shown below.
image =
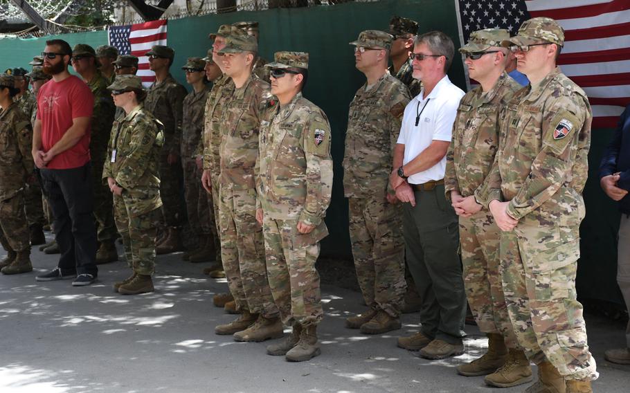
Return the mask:
<svg viewBox="0 0 630 393"><path fill-rule="evenodd" d="M311 113L303 138L307 192L300 221L317 226L325 216L332 192L330 125L322 112Z"/></svg>

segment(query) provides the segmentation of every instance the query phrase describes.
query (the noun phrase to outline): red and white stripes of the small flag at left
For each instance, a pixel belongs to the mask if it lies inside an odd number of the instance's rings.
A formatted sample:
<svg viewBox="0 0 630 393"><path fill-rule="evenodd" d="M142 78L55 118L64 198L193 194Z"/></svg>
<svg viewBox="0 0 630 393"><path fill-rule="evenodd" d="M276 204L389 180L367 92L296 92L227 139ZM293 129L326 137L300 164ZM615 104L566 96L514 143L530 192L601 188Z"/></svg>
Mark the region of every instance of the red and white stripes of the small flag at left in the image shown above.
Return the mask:
<svg viewBox="0 0 630 393"><path fill-rule="evenodd" d="M133 24L129 33L132 55L138 57L138 75L145 87L155 81L155 73L149 69L149 58L145 53L154 45L166 45L166 19Z"/></svg>

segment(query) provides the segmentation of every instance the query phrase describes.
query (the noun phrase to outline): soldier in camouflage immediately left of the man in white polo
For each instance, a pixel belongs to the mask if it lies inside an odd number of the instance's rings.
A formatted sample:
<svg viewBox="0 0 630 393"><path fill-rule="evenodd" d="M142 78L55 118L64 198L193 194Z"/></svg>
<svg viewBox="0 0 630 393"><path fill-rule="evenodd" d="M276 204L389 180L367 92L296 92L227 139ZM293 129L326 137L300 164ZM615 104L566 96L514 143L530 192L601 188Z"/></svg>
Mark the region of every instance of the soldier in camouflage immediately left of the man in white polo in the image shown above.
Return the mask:
<svg viewBox="0 0 630 393"><path fill-rule="evenodd" d="M402 208L390 188L392 152L411 100L387 72L392 36L366 30L354 45L357 69L367 77L350 102L345 133L343 190L350 210L350 240L357 280L370 309L345 320L350 329L378 334L400 329L406 289Z"/></svg>

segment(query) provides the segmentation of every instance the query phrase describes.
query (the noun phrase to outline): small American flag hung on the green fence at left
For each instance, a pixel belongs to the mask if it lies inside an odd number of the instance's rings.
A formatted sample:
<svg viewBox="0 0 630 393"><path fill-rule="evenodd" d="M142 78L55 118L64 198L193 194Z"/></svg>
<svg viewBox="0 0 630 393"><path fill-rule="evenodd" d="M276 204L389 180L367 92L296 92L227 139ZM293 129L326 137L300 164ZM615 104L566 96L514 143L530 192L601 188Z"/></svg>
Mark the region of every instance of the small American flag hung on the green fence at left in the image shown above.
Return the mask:
<svg viewBox="0 0 630 393"><path fill-rule="evenodd" d="M145 87L155 81L155 74L149 69L149 58L145 53L154 45L166 45L166 22L164 19L109 28L109 45L115 46L120 55L138 57L136 75L142 78Z"/></svg>

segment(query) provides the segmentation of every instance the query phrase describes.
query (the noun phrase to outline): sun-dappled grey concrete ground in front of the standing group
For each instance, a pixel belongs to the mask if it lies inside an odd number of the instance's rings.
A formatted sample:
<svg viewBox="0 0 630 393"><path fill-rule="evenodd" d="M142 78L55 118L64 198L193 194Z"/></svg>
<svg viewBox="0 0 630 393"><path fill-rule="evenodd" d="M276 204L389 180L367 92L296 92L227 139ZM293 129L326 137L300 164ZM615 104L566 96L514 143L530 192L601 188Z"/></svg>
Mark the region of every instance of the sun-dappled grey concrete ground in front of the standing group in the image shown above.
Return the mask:
<svg viewBox="0 0 630 393"><path fill-rule="evenodd" d="M35 282L36 274L56 266L57 257L33 248L33 273L0 277L1 393L508 393L526 387L498 390L483 377L456 374L456 365L487 347L476 327L467 326L464 355L440 361L396 347L397 336L417 330L417 313L403 316L403 328L384 336L345 329L344 318L364 309L354 291L323 286L322 354L288 363L265 354L267 342L215 335L215 325L235 317L213 307L212 296L227 285L201 274L207 264L160 256L156 292L123 296L111 285L129 275L125 262L100 266L92 286ZM623 327L595 317L587 322L600 371L594 391L629 392L630 365L603 358L604 349L624 344Z"/></svg>

